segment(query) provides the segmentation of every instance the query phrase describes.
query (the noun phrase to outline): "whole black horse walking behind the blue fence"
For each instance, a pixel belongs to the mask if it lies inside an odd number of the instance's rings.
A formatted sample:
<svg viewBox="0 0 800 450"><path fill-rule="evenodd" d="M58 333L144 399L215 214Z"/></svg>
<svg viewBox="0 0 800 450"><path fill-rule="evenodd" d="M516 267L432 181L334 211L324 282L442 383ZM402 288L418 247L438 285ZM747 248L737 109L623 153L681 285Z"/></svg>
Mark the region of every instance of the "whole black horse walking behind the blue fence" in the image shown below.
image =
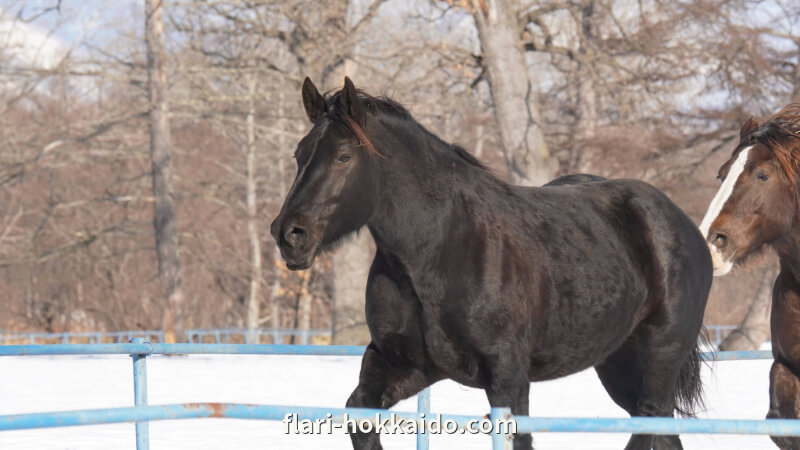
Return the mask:
<svg viewBox="0 0 800 450"><path fill-rule="evenodd" d="M595 367L631 415L693 413L711 259L664 194L633 180L512 186L347 78L328 97L306 79L302 96L313 128L272 224L281 255L306 269L365 225L377 244L372 342L347 406L389 408L451 378L524 415L530 381ZM681 442L634 435L627 448L653 446Z"/></svg>

